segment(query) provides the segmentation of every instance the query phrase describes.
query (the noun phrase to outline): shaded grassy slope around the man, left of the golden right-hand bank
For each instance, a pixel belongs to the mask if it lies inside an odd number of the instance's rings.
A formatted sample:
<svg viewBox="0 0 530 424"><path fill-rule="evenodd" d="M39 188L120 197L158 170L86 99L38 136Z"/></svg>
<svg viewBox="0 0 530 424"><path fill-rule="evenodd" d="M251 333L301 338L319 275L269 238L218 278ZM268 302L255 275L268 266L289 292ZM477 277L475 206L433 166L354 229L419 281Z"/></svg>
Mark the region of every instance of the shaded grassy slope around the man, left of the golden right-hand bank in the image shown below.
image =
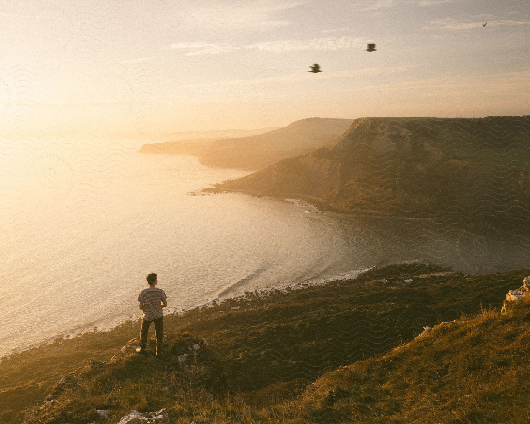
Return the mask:
<svg viewBox="0 0 530 424"><path fill-rule="evenodd" d="M338 422L345 417L345 406L337 403L337 410L326 409L324 390L335 384L334 377L315 383L316 397L311 384L315 379L341 365L380 358L377 355L412 341L423 326L480 313L481 305L500 313L507 291L519 287L526 275L528 270L466 276L403 264L325 286L250 293L180 316L167 315L163 360L140 360L133 351L120 352L127 340L138 337L137 323L61 340L0 363L5 387L0 422L87 424L96 417L95 410L110 409L113 418L98 422L114 424L132 409L161 408L179 424L193 419L228 419L234 424ZM170 337L172 332L178 334ZM202 338L207 349L202 346L195 358L193 345L204 345ZM178 356L186 353L184 367ZM505 359L505 366L511 366L510 357ZM80 365L85 368L76 370ZM414 361L410 367L415 367ZM55 383L72 372L79 377L76 383L58 391ZM369 374L363 378L368 385ZM435 379L422 384L438 387ZM46 398L56 400L43 403ZM363 399L369 402L367 395ZM21 407L35 403L42 408L24 415ZM351 411L347 420L352 419Z"/></svg>

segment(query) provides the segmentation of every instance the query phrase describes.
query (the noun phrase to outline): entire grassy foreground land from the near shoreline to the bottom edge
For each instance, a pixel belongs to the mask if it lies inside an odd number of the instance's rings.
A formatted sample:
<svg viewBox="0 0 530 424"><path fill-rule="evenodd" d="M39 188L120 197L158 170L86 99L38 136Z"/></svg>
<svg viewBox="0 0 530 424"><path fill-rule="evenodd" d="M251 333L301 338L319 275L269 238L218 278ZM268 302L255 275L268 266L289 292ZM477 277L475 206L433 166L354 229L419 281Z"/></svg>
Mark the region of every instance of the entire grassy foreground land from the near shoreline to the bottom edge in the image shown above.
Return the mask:
<svg viewBox="0 0 530 424"><path fill-rule="evenodd" d="M530 329L523 306L502 316L500 308L529 272L466 276L402 264L325 286L247 293L166 316L162 360L121 354L138 336L133 322L58 340L0 363L0 422L87 424L110 409L98 421L110 424L160 408L178 423L520 422L509 410L522 407L516 385L528 369L518 352ZM435 327L454 320L463 322ZM425 326L434 330L415 339ZM184 354L187 364L176 359ZM75 384L43 404L72 373ZM482 393L489 401L477 403Z"/></svg>

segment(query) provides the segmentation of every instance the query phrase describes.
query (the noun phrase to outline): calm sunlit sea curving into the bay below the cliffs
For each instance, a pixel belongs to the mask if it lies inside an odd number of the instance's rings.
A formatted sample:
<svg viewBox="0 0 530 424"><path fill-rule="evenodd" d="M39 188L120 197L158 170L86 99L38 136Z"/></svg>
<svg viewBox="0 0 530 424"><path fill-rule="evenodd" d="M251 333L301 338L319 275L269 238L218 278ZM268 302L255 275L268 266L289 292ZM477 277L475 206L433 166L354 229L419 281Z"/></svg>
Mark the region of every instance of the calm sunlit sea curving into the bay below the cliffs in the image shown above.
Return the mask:
<svg viewBox="0 0 530 424"><path fill-rule="evenodd" d="M204 193L248 174L142 139L0 143L0 357L138 319L146 275L166 313L401 262L479 274L528 268L528 237L481 219L319 211L295 199ZM502 300L502 299L500 299Z"/></svg>

